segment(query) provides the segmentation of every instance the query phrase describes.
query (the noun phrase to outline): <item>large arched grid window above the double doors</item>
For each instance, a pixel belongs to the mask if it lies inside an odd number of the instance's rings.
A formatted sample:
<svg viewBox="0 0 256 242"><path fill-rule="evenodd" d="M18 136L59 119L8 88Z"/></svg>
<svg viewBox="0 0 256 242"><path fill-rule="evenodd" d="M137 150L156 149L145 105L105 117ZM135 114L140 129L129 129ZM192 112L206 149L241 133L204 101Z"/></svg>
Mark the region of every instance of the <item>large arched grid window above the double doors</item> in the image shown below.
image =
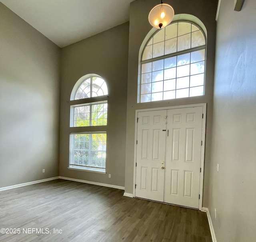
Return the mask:
<svg viewBox="0 0 256 242"><path fill-rule="evenodd" d="M174 22L146 44L138 102L204 95L206 38L191 22Z"/></svg>

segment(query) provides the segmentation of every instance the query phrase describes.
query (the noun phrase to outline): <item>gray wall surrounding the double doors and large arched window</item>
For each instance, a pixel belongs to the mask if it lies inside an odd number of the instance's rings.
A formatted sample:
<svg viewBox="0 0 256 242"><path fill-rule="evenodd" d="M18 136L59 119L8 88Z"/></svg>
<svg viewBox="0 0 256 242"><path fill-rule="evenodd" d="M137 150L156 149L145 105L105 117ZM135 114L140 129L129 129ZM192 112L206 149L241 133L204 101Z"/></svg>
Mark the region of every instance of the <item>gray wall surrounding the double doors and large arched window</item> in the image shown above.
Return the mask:
<svg viewBox="0 0 256 242"><path fill-rule="evenodd" d="M167 100L137 104L139 50L144 38L152 29L152 26L148 23L148 13L155 5L159 4L160 2L158 0L137 0L132 2L130 5L125 192L133 192L135 110L144 108L156 108L161 106L178 106L185 104L207 103L203 196L203 206L207 206L216 35L215 15L217 9L217 2L216 0L184 0L182 2L178 0L166 0L165 2L170 4L174 8L175 14L194 15L199 18L206 27L208 40L206 52L207 58L205 95L193 98L179 98L169 101Z"/></svg>

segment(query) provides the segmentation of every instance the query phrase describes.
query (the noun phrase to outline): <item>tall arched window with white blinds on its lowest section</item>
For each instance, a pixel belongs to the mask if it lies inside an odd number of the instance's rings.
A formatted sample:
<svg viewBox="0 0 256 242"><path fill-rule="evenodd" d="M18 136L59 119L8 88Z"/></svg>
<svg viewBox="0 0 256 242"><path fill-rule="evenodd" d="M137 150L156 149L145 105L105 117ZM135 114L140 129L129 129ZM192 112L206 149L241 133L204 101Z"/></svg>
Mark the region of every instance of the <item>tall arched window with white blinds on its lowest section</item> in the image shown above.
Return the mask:
<svg viewBox="0 0 256 242"><path fill-rule="evenodd" d="M107 95L105 80L96 74L83 76L74 85L70 129L79 127L79 132L70 132L69 169L106 173ZM96 131L92 126L97 126Z"/></svg>

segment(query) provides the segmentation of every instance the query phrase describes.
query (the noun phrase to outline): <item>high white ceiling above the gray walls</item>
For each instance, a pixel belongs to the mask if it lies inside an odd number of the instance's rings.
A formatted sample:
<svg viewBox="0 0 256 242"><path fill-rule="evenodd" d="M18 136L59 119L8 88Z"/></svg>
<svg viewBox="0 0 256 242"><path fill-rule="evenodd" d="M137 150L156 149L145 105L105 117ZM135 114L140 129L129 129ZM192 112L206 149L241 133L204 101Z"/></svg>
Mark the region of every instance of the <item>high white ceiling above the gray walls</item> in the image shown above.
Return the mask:
<svg viewBox="0 0 256 242"><path fill-rule="evenodd" d="M0 0L60 47L129 20L134 0Z"/></svg>

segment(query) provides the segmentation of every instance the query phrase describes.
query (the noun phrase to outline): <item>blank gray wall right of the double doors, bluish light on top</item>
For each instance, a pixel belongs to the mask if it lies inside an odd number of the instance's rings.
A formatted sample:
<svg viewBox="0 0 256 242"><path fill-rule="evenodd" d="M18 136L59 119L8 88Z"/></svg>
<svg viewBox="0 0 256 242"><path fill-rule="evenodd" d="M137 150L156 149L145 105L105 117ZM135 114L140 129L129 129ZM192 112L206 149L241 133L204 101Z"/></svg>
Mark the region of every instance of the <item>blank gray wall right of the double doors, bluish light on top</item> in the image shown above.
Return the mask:
<svg viewBox="0 0 256 242"><path fill-rule="evenodd" d="M221 1L209 183L218 242L256 238L255 23L255 0L245 0L241 12L234 11L233 1Z"/></svg>

